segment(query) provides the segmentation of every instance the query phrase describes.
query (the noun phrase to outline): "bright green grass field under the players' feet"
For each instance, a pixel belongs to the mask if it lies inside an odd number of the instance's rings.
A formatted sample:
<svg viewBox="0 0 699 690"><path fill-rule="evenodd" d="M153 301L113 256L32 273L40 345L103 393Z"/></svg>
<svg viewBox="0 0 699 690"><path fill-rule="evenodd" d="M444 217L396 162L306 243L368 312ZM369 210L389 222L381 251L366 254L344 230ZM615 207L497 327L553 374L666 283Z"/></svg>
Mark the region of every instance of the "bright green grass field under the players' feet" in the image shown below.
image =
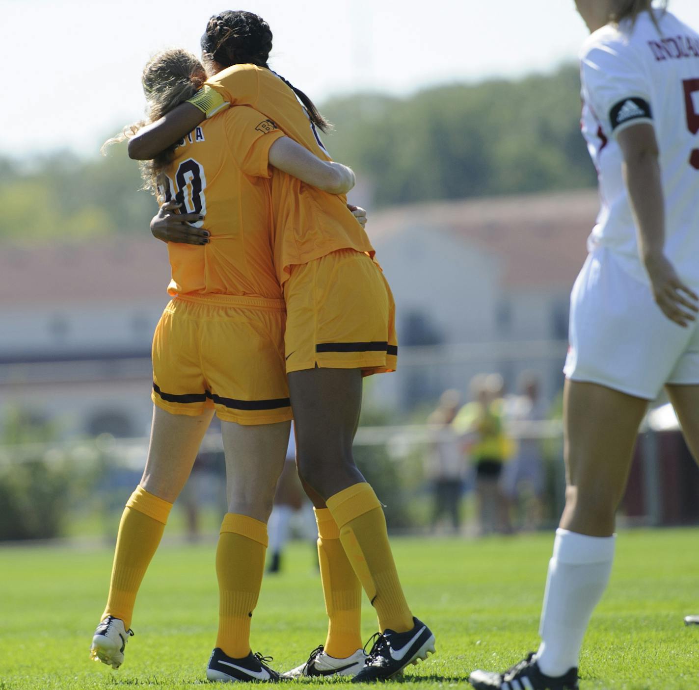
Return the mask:
<svg viewBox="0 0 699 690"><path fill-rule="evenodd" d="M551 546L550 534L395 539L408 600L437 637L437 654L411 666L402 682L463 685L473 668L503 670L534 649ZM113 671L87 656L110 550L0 548L0 690L205 684L217 617L214 550L213 543L161 547L139 594L136 637ZM325 630L310 546L292 545L286 565L264 582L252 640L281 670L305 661ZM612 584L584 645L582 689L698 689L699 627L682 625L687 612L699 613L699 531L621 534ZM374 626L367 605L366 638Z"/></svg>

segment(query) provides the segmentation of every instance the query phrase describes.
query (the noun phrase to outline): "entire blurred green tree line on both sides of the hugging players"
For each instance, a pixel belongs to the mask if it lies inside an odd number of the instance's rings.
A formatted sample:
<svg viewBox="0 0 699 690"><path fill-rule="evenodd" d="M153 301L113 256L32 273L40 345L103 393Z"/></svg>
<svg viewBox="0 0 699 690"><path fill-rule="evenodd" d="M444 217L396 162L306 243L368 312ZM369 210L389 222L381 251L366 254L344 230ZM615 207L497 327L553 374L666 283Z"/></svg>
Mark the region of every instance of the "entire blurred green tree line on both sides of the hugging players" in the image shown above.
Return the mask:
<svg viewBox="0 0 699 690"><path fill-rule="evenodd" d="M324 104L333 158L370 184L373 206L592 186L579 132L575 66L551 75L445 85L408 98L357 94ZM143 233L155 210L117 145L20 164L0 158L0 239Z"/></svg>

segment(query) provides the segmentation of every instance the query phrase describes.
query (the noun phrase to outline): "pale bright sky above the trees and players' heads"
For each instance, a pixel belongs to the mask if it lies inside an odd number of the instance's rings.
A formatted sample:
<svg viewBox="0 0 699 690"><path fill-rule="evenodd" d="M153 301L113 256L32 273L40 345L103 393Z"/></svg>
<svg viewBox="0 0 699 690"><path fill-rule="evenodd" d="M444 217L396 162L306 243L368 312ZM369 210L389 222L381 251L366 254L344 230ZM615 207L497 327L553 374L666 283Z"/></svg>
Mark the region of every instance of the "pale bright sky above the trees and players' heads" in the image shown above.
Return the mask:
<svg viewBox="0 0 699 690"><path fill-rule="evenodd" d="M143 112L140 71L161 47L199 53L221 0L1 0L0 45L20 68L0 150L94 155ZM670 7L699 27L696 0ZM236 8L236 6L233 6ZM573 0L250 0L273 30L271 65L315 101L547 71L586 36ZM16 96L16 98L15 98Z"/></svg>

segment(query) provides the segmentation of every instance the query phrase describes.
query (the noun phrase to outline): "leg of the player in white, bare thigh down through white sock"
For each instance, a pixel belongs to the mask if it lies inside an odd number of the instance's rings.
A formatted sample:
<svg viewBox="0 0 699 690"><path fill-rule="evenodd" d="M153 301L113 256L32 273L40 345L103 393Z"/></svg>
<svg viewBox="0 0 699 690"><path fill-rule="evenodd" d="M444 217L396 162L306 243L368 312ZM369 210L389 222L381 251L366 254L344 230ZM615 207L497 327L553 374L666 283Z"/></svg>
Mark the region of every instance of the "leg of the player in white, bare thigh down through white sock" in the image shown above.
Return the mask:
<svg viewBox="0 0 699 690"><path fill-rule="evenodd" d="M541 616L542 673L577 666L590 617L609 582L614 513L624 493L647 401L594 383L566 381L563 424L567 488Z"/></svg>

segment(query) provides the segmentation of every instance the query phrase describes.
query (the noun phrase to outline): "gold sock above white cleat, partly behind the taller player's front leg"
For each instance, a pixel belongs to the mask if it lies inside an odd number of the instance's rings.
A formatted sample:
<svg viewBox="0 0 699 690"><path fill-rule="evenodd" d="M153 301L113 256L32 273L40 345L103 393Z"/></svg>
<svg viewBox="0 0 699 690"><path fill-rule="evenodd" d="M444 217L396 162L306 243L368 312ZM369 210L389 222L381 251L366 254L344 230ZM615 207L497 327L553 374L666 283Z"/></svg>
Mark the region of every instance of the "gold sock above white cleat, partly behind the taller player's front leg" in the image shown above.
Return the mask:
<svg viewBox="0 0 699 690"><path fill-rule="evenodd" d="M345 659L361 649L361 585L340 543L340 529L328 508L314 508L318 561L328 612L325 652Z"/></svg>

